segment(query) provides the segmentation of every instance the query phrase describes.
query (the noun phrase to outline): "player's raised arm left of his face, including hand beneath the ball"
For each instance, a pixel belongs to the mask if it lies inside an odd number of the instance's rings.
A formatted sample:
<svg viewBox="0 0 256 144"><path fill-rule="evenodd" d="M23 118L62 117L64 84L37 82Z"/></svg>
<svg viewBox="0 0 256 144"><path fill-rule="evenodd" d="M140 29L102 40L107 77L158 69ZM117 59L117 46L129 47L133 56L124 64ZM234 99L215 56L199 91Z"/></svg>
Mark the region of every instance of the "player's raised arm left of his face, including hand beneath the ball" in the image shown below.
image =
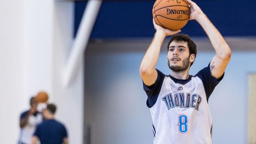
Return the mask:
<svg viewBox="0 0 256 144"><path fill-rule="evenodd" d="M140 76L147 86L151 86L156 81L157 72L155 66L164 38L180 32L180 30L171 31L164 29L161 26L158 26L154 20L153 24L156 29L156 33L140 64Z"/></svg>

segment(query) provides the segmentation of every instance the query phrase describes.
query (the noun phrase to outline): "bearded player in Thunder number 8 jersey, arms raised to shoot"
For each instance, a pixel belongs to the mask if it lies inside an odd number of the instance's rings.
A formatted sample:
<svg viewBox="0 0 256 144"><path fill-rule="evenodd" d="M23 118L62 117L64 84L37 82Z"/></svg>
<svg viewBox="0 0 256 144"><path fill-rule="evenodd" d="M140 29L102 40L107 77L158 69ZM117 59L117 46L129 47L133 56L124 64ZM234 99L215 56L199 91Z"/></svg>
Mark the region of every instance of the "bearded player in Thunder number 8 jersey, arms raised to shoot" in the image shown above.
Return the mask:
<svg viewBox="0 0 256 144"><path fill-rule="evenodd" d="M191 0L190 20L196 20L208 35L216 55L195 76L189 75L196 58L196 45L180 30L171 31L155 24L156 33L140 65L140 76L148 95L147 106L153 121L154 144L212 144L212 118L208 98L222 80L231 57L224 38L202 10ZM177 35L174 35L177 34ZM155 69L166 36L170 75Z"/></svg>

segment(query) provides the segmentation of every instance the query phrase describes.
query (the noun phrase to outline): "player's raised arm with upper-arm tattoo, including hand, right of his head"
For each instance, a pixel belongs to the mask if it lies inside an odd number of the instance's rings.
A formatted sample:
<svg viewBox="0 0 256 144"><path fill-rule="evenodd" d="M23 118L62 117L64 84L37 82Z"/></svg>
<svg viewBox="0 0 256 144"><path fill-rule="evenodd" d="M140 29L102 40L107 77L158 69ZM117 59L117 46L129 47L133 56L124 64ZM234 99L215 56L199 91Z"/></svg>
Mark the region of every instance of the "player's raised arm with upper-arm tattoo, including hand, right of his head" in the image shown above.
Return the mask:
<svg viewBox="0 0 256 144"><path fill-rule="evenodd" d="M191 0L186 0L190 5L190 20L196 20L208 35L216 55L210 63L212 76L220 78L228 65L231 50L215 26L210 22L202 10Z"/></svg>

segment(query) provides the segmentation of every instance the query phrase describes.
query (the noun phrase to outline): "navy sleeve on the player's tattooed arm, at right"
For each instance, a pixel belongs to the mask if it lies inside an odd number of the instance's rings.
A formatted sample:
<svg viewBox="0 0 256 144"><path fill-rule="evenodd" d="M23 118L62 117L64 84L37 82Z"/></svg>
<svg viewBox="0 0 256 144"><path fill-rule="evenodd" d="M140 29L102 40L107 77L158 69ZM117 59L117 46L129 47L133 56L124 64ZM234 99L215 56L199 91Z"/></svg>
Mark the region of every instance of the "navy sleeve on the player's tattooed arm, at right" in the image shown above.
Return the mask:
<svg viewBox="0 0 256 144"><path fill-rule="evenodd" d="M211 74L210 63L209 63L207 67L200 70L195 76L198 76L202 80L203 85L204 85L204 91L206 93L206 98L207 98L207 102L208 102L208 99L209 99L210 95L212 94L214 88L224 77L224 73L222 74L222 76L219 79L214 78Z"/></svg>

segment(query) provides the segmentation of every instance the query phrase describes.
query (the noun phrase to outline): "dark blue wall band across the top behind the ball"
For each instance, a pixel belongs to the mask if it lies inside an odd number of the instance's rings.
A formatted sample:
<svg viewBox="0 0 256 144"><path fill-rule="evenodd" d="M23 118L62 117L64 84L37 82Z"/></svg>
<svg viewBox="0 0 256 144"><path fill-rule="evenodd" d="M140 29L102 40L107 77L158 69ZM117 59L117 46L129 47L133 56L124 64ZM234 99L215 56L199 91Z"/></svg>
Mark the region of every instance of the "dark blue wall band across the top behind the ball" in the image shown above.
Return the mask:
<svg viewBox="0 0 256 144"><path fill-rule="evenodd" d="M224 36L256 36L256 1L194 0ZM102 3L91 38L152 37L154 0L108 0ZM75 33L86 1L75 2ZM195 21L189 21L182 32L206 36Z"/></svg>

